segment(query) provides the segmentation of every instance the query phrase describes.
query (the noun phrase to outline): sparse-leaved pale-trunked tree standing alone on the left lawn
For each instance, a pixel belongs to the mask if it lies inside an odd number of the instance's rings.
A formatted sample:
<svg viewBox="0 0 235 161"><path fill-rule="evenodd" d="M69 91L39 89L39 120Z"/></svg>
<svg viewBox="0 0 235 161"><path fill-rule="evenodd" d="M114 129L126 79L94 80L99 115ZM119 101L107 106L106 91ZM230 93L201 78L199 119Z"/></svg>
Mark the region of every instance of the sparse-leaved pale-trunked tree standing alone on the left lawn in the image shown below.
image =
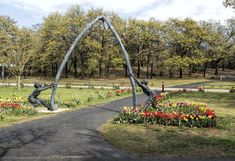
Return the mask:
<svg viewBox="0 0 235 161"><path fill-rule="evenodd" d="M0 62L15 76L18 90L21 89L21 76L30 57L34 54L33 31L22 28L17 29L14 35L5 34L8 41L5 49L0 50ZM7 38L8 37L8 38Z"/></svg>

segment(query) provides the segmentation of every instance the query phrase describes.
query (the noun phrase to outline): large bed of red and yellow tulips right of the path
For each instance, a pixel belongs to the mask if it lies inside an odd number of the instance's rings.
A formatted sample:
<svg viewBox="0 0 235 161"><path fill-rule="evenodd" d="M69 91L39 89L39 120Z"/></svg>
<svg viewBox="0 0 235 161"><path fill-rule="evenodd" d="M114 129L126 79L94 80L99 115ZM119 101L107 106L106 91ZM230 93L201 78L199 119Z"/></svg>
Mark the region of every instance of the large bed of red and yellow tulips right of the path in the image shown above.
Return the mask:
<svg viewBox="0 0 235 161"><path fill-rule="evenodd" d="M156 96L156 109L148 108L141 112L141 107L123 107L121 113L113 120L114 123L129 124L160 124L188 127L215 127L216 114L207 104L200 102L167 101L183 91L161 93Z"/></svg>

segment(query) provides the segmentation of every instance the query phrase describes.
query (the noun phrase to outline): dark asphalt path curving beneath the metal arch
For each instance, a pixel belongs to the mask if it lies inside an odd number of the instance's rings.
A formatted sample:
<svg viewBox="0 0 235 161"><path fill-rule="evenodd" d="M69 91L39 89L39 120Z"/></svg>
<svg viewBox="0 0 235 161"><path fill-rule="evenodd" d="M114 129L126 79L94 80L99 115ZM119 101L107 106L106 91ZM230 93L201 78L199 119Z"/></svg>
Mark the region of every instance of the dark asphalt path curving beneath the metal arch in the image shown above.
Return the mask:
<svg viewBox="0 0 235 161"><path fill-rule="evenodd" d="M138 96L138 100L144 102L146 97ZM128 104L131 104L130 97L105 105L91 106L50 118L0 128L0 160L189 160L189 158L135 156L108 144L100 135L98 128L116 115L122 106Z"/></svg>

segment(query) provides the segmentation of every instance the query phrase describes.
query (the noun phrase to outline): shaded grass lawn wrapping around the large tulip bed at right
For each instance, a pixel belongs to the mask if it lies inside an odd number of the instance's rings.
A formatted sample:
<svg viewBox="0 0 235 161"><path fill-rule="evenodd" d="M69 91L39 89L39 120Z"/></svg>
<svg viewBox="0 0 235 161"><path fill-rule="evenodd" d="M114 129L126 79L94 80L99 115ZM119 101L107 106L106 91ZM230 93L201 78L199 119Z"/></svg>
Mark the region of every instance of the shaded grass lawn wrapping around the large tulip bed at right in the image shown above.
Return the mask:
<svg viewBox="0 0 235 161"><path fill-rule="evenodd" d="M105 123L101 133L116 147L140 155L235 158L235 94L183 93L170 101L200 101L217 114L216 128Z"/></svg>

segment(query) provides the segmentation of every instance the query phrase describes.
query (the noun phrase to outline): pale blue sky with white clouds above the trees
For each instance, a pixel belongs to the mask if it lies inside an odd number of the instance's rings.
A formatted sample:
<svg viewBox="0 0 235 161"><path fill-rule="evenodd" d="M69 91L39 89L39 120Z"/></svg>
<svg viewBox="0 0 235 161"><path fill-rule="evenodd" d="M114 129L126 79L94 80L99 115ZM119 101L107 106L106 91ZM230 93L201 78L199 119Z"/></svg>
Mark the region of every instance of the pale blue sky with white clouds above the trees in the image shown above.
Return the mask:
<svg viewBox="0 0 235 161"><path fill-rule="evenodd" d="M103 8L123 18L167 20L169 17L224 21L235 17L223 0L0 0L0 15L9 15L21 26L41 23L50 12L65 12L78 4L84 10Z"/></svg>

